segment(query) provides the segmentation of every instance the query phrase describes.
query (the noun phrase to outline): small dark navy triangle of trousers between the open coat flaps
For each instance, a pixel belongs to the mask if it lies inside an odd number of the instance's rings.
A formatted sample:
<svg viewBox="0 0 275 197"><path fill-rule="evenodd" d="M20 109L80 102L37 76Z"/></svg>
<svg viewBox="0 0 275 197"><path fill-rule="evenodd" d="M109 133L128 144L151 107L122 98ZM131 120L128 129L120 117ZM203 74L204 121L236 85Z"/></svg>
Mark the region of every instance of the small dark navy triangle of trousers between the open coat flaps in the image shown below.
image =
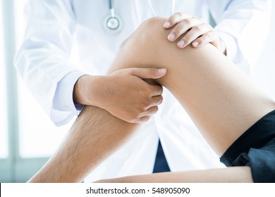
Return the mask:
<svg viewBox="0 0 275 197"><path fill-rule="evenodd" d="M159 140L159 146L157 147L157 155L154 163L153 173L157 172L170 172L169 165L164 155L164 150L161 146L161 141Z"/></svg>

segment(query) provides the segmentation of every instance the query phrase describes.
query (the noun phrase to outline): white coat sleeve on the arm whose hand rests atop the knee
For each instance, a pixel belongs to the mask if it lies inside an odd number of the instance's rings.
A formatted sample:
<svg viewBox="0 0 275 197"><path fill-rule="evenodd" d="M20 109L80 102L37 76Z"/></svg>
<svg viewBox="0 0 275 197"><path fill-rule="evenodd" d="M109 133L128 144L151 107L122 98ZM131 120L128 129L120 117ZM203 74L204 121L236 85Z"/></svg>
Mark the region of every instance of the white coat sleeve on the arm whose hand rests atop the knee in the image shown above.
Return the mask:
<svg viewBox="0 0 275 197"><path fill-rule="evenodd" d="M249 74L264 46L271 20L270 0L209 0L215 30L228 58Z"/></svg>

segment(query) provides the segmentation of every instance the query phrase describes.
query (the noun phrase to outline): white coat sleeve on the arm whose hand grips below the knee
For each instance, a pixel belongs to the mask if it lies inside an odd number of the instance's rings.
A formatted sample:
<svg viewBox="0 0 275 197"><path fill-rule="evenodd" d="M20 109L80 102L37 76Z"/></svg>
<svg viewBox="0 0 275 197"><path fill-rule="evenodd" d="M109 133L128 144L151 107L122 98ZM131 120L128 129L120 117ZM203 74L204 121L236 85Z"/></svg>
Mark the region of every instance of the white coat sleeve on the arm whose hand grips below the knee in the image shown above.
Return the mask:
<svg viewBox="0 0 275 197"><path fill-rule="evenodd" d="M31 0L25 6L27 27L14 63L32 95L56 125L64 125L78 110L73 87L81 75L70 63L75 30L71 1Z"/></svg>

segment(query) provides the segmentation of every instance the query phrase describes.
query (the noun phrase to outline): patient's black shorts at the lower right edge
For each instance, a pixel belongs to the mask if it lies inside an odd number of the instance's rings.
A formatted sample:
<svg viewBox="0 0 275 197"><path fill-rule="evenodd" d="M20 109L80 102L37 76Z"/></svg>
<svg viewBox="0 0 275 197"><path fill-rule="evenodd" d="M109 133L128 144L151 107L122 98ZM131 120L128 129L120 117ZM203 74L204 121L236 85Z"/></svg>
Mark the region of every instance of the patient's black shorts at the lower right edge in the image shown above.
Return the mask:
<svg viewBox="0 0 275 197"><path fill-rule="evenodd" d="M226 166L250 166L254 182L275 182L275 110L242 134L221 156Z"/></svg>

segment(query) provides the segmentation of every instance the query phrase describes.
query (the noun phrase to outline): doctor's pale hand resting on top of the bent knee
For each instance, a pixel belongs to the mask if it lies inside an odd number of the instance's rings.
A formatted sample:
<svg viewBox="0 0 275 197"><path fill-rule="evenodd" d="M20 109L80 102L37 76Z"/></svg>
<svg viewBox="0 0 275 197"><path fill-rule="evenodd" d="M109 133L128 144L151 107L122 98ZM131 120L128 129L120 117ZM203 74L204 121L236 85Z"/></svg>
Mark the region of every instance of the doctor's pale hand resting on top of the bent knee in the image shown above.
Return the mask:
<svg viewBox="0 0 275 197"><path fill-rule="evenodd" d="M170 42L177 41L177 46L180 49L190 43L193 47L211 43L216 49L226 54L226 44L216 34L214 28L205 23L203 19L186 13L174 13L165 21L164 28L172 29L168 39ZM181 39L179 39L180 37Z"/></svg>

